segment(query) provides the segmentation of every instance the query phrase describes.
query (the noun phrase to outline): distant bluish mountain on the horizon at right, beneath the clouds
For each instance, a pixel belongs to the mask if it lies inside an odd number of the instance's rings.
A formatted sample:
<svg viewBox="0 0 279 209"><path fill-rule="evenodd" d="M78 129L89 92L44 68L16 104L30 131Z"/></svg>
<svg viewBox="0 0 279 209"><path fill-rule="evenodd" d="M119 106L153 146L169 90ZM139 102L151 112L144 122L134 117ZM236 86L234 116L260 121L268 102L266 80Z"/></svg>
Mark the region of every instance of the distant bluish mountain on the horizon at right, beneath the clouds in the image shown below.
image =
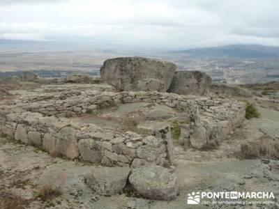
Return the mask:
<svg viewBox="0 0 279 209"><path fill-rule="evenodd" d="M176 53L187 54L189 56L251 59L279 57L279 47L268 47L263 45L225 45L221 47L188 49L177 51Z"/></svg>

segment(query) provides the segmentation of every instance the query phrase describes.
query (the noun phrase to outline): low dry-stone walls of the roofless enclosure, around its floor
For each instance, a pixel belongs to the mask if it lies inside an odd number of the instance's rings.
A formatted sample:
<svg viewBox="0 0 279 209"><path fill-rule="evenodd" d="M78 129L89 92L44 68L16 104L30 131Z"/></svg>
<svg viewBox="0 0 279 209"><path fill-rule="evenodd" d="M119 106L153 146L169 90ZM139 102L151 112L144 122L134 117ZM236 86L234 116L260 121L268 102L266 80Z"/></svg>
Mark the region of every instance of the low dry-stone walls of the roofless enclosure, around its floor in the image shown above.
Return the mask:
<svg viewBox="0 0 279 209"><path fill-rule="evenodd" d="M0 102L2 134L52 155L107 167L140 167L152 162L169 166L174 157L170 125L167 120L151 119L150 125L119 131L88 123L83 118L86 115L141 102L145 109L165 106L184 117L179 123L180 144L198 149L219 144L245 118L241 102L157 91L116 92L102 85L45 85L31 93L13 94L12 100Z"/></svg>

